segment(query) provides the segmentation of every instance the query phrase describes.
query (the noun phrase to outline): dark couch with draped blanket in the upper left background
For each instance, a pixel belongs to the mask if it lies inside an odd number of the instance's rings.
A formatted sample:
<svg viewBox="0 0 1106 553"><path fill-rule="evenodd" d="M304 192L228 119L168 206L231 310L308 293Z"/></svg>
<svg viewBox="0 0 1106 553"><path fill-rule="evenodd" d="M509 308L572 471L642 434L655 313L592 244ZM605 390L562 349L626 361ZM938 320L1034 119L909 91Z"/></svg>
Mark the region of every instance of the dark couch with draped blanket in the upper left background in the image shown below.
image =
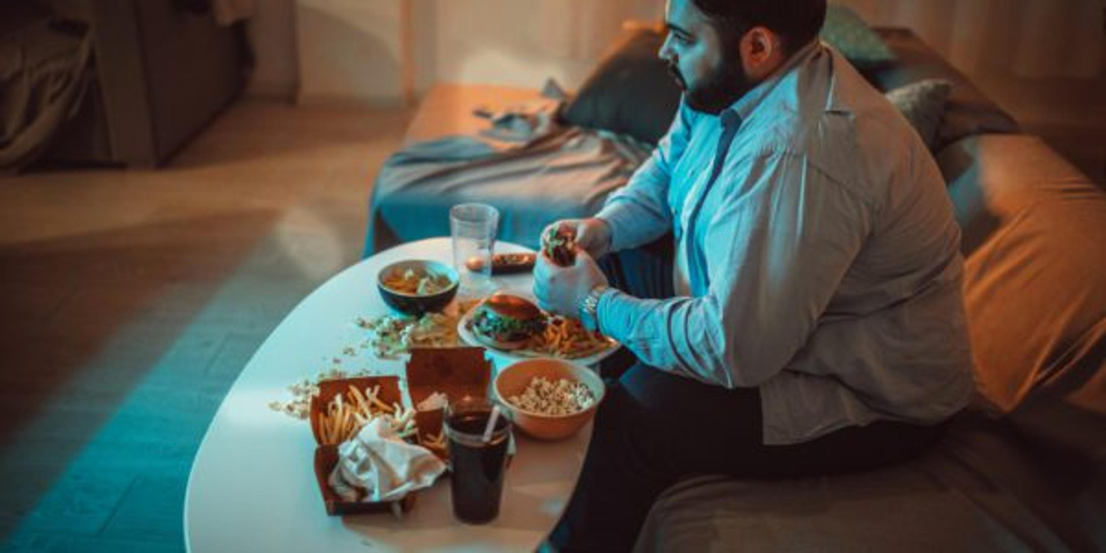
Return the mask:
<svg viewBox="0 0 1106 553"><path fill-rule="evenodd" d="M246 85L244 29L207 1L4 2L0 30L0 170L160 166Z"/></svg>

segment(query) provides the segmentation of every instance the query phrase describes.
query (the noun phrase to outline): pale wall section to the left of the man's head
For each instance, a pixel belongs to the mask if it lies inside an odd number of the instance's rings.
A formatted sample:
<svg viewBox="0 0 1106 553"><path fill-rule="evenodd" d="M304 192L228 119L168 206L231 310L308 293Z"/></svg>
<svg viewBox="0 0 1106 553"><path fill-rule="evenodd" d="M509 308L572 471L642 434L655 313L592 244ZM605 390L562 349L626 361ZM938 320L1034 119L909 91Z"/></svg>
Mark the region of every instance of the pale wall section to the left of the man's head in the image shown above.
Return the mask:
<svg viewBox="0 0 1106 553"><path fill-rule="evenodd" d="M411 84L576 86L627 18L660 17L657 0L260 0L249 93L300 102L403 100L404 3Z"/></svg>

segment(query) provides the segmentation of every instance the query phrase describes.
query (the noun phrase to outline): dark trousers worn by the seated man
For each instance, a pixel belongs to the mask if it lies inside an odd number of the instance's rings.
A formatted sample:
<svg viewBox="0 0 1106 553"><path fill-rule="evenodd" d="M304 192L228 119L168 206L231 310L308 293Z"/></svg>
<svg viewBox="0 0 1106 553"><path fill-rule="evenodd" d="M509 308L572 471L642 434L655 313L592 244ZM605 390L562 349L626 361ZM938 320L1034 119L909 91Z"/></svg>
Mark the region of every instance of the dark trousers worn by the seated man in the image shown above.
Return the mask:
<svg viewBox="0 0 1106 553"><path fill-rule="evenodd" d="M671 290L670 261L662 254L639 250L613 258L603 262L613 285L653 298ZM630 264L641 262L666 264ZM635 284L627 285L627 275ZM633 290L643 283L661 288ZM654 501L685 477L782 479L867 470L919 455L943 429L880 421L765 446L757 388L710 386L640 363L615 376L618 369L616 362L602 367L607 396L576 489L550 535L559 551L629 551Z"/></svg>

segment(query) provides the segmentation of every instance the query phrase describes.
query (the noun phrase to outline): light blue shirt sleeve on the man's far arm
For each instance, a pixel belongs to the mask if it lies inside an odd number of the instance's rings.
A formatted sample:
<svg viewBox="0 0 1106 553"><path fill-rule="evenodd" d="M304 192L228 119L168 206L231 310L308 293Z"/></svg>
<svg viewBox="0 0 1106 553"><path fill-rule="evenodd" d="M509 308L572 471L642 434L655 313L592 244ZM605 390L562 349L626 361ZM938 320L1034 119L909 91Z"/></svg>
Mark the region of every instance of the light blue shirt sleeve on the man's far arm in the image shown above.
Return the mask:
<svg viewBox="0 0 1106 553"><path fill-rule="evenodd" d="M660 238L672 228L668 185L684 155L695 113L681 101L668 133L629 182L609 197L596 216L611 227L611 250L624 250Z"/></svg>

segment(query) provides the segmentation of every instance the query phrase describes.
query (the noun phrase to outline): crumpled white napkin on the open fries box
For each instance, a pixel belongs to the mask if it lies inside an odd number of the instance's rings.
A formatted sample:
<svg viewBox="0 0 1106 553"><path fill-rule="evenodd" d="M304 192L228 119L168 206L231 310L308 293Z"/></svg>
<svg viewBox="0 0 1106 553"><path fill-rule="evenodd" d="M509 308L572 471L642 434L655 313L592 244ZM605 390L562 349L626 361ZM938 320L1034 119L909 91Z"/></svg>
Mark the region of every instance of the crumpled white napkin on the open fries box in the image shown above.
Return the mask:
<svg viewBox="0 0 1106 553"><path fill-rule="evenodd" d="M338 446L338 462L327 481L345 501L357 501L356 487L368 492L362 501L395 501L429 487L445 470L429 449L407 444L388 420L377 417Z"/></svg>

